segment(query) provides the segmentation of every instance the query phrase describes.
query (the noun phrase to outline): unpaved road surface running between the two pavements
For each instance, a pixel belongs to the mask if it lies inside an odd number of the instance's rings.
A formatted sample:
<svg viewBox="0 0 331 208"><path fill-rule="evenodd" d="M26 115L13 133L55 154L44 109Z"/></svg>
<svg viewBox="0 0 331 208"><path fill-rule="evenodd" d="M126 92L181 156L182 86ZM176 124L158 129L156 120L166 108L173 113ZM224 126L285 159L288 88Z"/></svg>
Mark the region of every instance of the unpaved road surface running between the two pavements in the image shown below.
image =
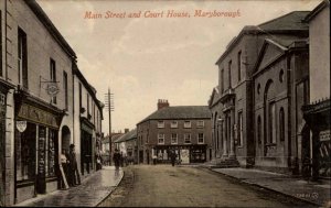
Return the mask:
<svg viewBox="0 0 331 208"><path fill-rule="evenodd" d="M100 207L311 207L205 168L125 167L119 186Z"/></svg>

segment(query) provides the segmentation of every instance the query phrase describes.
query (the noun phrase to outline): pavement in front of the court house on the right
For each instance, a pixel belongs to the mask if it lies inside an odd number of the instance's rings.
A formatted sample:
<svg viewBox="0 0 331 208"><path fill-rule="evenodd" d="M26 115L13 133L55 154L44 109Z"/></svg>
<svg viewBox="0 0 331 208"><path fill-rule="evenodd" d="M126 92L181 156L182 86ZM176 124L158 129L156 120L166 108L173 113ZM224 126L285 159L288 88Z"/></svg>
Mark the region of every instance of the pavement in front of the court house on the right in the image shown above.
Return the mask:
<svg viewBox="0 0 331 208"><path fill-rule="evenodd" d="M331 207L330 180L308 182L289 175L242 167L212 171L317 206Z"/></svg>

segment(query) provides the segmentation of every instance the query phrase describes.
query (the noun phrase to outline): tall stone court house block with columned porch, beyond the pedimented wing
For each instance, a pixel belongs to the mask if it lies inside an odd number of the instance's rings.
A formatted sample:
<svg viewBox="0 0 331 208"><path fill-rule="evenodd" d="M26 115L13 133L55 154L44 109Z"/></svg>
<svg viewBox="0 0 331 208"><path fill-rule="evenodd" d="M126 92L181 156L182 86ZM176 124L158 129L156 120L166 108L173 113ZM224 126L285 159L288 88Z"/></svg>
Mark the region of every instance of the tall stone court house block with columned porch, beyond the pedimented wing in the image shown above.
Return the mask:
<svg viewBox="0 0 331 208"><path fill-rule="evenodd" d="M307 13L295 11L256 26L245 26L216 62L218 86L209 100L216 165L224 161L254 165L253 74L259 52L268 37L308 37L308 24L301 22Z"/></svg>

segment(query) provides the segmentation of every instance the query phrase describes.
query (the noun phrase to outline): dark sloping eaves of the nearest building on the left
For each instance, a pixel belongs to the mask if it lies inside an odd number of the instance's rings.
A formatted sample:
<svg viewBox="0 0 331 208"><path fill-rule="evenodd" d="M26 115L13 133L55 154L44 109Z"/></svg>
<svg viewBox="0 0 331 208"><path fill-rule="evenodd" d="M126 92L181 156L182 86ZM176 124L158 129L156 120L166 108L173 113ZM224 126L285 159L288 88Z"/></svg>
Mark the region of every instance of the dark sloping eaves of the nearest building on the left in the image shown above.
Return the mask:
<svg viewBox="0 0 331 208"><path fill-rule="evenodd" d="M58 30L55 28L53 22L50 20L47 14L43 11L43 9L38 4L35 0L24 0L24 2L29 6L29 8L33 11L36 18L41 21L41 23L46 28L50 34L54 37L54 40L60 44L63 51L71 56L71 58L76 59L77 56L74 50L70 46L70 44L65 41Z"/></svg>

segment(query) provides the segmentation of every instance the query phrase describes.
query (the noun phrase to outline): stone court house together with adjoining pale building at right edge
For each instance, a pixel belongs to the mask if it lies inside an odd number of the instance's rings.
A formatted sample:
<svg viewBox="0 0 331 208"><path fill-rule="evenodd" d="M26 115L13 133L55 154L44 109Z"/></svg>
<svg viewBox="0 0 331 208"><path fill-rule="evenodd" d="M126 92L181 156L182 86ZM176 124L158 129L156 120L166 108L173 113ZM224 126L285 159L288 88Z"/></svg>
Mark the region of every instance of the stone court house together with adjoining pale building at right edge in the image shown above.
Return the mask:
<svg viewBox="0 0 331 208"><path fill-rule="evenodd" d="M245 26L228 44L209 100L216 165L330 177L329 8Z"/></svg>

